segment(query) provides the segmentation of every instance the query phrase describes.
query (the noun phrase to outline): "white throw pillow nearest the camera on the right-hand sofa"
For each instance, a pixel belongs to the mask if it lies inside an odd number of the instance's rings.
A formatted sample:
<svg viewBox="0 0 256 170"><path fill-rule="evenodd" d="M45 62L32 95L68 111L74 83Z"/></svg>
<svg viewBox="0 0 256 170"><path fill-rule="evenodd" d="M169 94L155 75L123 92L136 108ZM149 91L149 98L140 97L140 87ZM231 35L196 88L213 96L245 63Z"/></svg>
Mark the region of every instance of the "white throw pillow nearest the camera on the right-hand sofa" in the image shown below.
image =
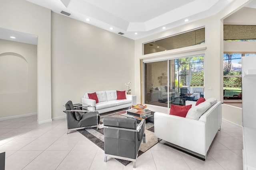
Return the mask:
<svg viewBox="0 0 256 170"><path fill-rule="evenodd" d="M204 112L206 112L206 110L208 110L210 107L211 107L210 102L207 102L207 101L202 102L197 106L189 109L186 115L186 118L198 120L200 116L204 114Z"/></svg>

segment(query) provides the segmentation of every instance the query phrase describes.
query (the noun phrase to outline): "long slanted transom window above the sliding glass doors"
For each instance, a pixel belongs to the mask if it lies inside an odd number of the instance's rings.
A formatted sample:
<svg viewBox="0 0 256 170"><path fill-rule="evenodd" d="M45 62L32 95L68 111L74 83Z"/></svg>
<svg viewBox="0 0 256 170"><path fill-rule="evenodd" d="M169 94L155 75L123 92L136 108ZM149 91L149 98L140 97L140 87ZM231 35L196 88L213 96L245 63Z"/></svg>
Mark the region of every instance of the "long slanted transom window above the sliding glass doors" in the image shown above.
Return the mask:
<svg viewBox="0 0 256 170"><path fill-rule="evenodd" d="M188 47L204 43L205 41L205 29L197 29L187 33L174 35L157 41L144 44L144 55L150 53L157 53L160 51L167 51L172 49L178 49L182 47Z"/></svg>

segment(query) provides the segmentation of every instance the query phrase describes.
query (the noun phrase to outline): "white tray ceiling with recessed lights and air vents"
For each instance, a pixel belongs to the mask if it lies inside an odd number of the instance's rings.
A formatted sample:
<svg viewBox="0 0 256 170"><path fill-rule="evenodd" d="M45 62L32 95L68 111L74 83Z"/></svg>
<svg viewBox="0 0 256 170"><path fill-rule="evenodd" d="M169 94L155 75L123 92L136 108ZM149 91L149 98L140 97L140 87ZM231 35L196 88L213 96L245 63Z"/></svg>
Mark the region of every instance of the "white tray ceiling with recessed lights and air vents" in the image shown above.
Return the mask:
<svg viewBox="0 0 256 170"><path fill-rule="evenodd" d="M140 39L220 12L233 0L27 0L124 37ZM256 0L247 5L256 8ZM63 15L63 14L62 14ZM90 21L86 21L90 18ZM189 21L185 22L184 20ZM110 27L114 28L110 30ZM135 35L135 33L138 33ZM10 39L17 34L18 38ZM21 36L19 38L19 36ZM120 35L121 36L121 35ZM0 28L0 39L36 44L37 36Z"/></svg>

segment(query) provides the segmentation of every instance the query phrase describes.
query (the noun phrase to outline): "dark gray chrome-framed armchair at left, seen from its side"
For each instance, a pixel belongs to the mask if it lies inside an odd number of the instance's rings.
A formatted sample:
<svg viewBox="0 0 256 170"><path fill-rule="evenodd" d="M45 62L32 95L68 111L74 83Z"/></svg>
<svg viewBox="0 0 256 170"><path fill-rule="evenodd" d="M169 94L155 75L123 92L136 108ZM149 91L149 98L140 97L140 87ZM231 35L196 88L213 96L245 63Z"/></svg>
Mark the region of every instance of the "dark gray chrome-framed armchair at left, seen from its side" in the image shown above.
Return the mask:
<svg viewBox="0 0 256 170"><path fill-rule="evenodd" d="M98 111L81 110L78 106L74 108L71 101L65 104L67 114L68 132L69 130L85 129L88 127L97 127L100 122L100 114ZM67 134L68 134L67 132Z"/></svg>

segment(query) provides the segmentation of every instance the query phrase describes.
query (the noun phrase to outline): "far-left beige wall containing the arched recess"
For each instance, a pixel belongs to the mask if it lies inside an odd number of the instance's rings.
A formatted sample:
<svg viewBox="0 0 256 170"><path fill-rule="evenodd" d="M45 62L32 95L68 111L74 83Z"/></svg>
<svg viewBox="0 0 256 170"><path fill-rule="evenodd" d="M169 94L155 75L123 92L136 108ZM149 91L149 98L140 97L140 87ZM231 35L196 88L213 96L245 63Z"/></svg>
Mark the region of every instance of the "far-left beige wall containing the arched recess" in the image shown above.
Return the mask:
<svg viewBox="0 0 256 170"><path fill-rule="evenodd" d="M37 112L37 47L0 39L2 117Z"/></svg>

